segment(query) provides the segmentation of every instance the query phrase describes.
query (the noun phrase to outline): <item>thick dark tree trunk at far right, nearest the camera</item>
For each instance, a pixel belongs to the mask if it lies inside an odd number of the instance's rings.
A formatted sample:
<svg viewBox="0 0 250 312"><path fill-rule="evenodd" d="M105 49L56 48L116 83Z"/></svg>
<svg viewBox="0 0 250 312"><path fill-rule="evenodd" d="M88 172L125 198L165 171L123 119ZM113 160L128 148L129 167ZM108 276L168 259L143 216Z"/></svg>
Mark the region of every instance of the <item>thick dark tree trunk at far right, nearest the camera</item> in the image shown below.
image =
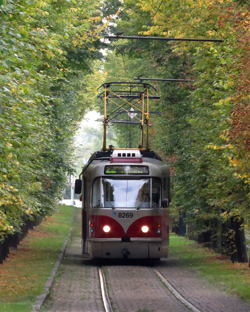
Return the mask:
<svg viewBox="0 0 250 312"><path fill-rule="evenodd" d="M244 219L231 217L231 229L234 232L231 247L231 261L232 262L248 262L247 247L245 244L245 232L241 229Z"/></svg>

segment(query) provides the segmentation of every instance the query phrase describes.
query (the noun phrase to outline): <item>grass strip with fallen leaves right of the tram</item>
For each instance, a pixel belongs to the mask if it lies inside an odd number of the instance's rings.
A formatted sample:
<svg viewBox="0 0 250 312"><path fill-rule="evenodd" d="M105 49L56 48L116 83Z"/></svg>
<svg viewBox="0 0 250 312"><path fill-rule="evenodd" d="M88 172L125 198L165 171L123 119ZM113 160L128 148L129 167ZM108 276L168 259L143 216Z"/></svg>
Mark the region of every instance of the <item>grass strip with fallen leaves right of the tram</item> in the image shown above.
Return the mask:
<svg viewBox="0 0 250 312"><path fill-rule="evenodd" d="M195 269L209 282L234 292L250 302L250 268L248 263L231 263L225 255L216 254L193 240L170 234L169 254L181 264Z"/></svg>

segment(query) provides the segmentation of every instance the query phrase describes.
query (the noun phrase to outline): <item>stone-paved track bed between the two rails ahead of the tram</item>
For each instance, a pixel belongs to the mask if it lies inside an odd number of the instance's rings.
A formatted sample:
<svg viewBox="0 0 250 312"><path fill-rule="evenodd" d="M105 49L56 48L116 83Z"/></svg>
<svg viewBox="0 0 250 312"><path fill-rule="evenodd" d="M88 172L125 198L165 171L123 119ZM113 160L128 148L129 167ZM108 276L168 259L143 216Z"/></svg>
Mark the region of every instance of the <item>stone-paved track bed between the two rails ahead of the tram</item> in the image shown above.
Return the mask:
<svg viewBox="0 0 250 312"><path fill-rule="evenodd" d="M113 312L189 312L150 267L110 265L104 274Z"/></svg>

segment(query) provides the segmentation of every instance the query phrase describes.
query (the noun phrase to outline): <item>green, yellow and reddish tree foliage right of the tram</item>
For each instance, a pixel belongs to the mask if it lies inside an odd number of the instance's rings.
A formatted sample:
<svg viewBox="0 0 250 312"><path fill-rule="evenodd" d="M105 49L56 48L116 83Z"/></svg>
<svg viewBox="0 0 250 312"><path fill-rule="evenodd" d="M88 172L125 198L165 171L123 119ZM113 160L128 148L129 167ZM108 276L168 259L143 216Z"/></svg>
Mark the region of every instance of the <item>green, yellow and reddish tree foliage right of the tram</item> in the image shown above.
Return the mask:
<svg viewBox="0 0 250 312"><path fill-rule="evenodd" d="M145 60L147 69L138 75L195 80L158 83L164 116L152 125L151 147L172 166L172 210L186 211L188 224L200 232L216 224L219 236L221 222L250 216L249 5L127 0L120 11L117 32L125 35L224 40L115 42L123 53Z"/></svg>

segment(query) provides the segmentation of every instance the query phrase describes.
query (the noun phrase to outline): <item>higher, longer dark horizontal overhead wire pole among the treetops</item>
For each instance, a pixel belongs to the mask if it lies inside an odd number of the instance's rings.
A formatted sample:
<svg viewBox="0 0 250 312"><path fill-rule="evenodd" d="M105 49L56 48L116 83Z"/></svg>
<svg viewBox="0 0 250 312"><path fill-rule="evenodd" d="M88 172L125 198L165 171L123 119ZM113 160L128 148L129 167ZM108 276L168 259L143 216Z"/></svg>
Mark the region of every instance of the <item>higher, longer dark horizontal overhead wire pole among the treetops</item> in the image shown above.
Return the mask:
<svg viewBox="0 0 250 312"><path fill-rule="evenodd" d="M201 41L201 42L223 42L222 39L198 39L198 38L167 38L167 37L146 37L146 36L114 36L104 35L104 38L115 39L139 39L139 40L164 40L164 41Z"/></svg>

